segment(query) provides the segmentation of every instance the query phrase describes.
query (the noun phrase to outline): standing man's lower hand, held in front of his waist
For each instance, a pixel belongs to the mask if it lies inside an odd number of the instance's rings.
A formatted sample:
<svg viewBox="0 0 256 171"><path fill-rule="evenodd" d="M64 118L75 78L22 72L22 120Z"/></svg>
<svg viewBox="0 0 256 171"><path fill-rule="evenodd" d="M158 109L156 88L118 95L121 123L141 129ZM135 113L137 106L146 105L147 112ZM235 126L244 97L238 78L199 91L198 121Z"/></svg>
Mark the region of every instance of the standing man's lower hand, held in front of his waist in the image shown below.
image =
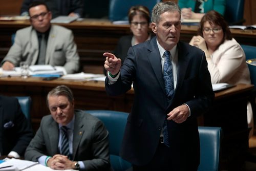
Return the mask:
<svg viewBox="0 0 256 171"><path fill-rule="evenodd" d="M175 108L173 111L167 114L167 120L173 120L176 123L182 123L187 120L189 116L188 106L183 104Z"/></svg>

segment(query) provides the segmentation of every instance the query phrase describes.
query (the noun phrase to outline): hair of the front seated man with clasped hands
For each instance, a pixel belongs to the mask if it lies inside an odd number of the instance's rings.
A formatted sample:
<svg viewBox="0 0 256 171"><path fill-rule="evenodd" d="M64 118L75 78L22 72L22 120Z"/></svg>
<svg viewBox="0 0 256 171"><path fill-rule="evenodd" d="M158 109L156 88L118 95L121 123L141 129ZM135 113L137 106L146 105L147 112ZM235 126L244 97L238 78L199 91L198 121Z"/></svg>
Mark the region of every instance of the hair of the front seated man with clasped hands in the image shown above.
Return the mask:
<svg viewBox="0 0 256 171"><path fill-rule="evenodd" d="M74 101L74 96L72 91L70 90L70 88L68 88L67 86L61 85L61 86L57 86L56 88L52 89L48 95L47 95L47 99L46 99L46 104L49 107L49 97L50 96L66 96L69 100L69 102L73 102Z"/></svg>

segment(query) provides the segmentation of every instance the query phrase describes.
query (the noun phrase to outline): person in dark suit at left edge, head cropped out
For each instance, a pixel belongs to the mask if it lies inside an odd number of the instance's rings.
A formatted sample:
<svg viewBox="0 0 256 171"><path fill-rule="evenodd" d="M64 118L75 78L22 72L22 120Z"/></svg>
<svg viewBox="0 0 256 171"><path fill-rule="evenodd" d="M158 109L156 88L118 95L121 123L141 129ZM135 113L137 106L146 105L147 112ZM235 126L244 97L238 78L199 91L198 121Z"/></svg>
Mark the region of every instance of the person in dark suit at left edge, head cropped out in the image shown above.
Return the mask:
<svg viewBox="0 0 256 171"><path fill-rule="evenodd" d="M0 115L0 156L24 156L33 133L18 100L15 97L0 96Z"/></svg>

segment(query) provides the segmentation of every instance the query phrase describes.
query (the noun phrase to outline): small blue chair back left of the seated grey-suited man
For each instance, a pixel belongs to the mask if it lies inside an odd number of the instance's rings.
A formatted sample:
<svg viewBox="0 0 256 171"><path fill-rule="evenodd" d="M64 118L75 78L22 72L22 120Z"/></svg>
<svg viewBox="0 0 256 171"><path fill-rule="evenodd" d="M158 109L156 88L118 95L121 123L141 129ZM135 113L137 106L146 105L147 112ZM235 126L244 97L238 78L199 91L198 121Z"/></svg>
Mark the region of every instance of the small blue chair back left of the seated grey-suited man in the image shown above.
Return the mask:
<svg viewBox="0 0 256 171"><path fill-rule="evenodd" d="M31 109L31 97L30 96L17 96L20 108L22 109L22 112L26 116L26 118L29 120L29 123L31 121L30 117L30 109Z"/></svg>

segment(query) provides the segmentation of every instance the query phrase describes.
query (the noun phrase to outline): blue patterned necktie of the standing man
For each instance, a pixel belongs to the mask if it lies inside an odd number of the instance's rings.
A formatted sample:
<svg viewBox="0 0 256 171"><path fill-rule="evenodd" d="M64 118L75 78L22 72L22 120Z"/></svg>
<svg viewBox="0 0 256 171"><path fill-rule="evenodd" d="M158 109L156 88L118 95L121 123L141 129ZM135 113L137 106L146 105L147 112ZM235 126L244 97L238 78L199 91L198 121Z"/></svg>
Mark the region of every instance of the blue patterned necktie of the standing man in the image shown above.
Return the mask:
<svg viewBox="0 0 256 171"><path fill-rule="evenodd" d="M165 92L167 99L172 99L174 95L174 79L173 79L173 67L172 67L172 55L169 51L164 52L165 61L163 65L163 79L165 84ZM168 130L167 130L167 118L164 120L163 124L163 143L169 146L168 141Z"/></svg>

